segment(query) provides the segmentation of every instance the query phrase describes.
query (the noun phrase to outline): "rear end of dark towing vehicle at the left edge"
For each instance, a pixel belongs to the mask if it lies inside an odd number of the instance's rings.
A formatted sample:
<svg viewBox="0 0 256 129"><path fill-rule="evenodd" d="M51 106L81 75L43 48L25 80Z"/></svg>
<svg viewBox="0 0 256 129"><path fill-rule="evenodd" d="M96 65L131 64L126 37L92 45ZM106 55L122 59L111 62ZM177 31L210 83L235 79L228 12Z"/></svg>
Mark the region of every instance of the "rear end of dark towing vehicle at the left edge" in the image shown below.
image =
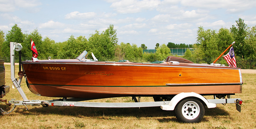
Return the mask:
<svg viewBox="0 0 256 129"><path fill-rule="evenodd" d="M0 60L0 98L3 98L10 91L10 86L5 86L4 60Z"/></svg>

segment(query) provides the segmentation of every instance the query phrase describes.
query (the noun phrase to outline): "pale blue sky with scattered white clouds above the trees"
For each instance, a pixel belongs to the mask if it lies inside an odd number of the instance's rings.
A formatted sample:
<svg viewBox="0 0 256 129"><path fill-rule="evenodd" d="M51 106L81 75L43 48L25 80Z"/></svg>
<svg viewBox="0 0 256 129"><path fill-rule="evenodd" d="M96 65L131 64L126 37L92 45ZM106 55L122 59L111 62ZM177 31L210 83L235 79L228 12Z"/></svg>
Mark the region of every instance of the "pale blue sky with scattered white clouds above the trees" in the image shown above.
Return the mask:
<svg viewBox="0 0 256 129"><path fill-rule="evenodd" d="M118 43L196 43L198 27L219 30L244 20L256 25L255 0L0 0L0 30L14 24L55 42L100 33L114 25Z"/></svg>

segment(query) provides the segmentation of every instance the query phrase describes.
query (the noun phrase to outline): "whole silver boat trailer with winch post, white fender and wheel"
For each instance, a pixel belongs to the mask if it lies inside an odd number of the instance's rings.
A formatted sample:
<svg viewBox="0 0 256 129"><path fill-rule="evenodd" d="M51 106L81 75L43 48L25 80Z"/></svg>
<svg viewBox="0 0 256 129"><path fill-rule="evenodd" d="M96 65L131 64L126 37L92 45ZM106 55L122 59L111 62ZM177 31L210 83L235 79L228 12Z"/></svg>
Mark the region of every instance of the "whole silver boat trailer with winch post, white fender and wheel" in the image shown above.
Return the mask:
<svg viewBox="0 0 256 129"><path fill-rule="evenodd" d="M108 103L108 102L80 102L85 99L81 98L63 98L55 100L28 100L20 84L24 73L18 72L19 77L15 78L15 63L14 63L14 48L16 43L11 42L11 80L19 91L23 100L12 99L9 104L15 106L27 105L31 106L79 106L79 107L97 107L97 108L141 108L141 107L161 107L162 110L174 110L175 116L178 120L185 123L195 123L201 121L205 113L205 106L208 108L215 108L216 104L227 104L235 103L236 109L241 112L242 100L236 99L225 99L225 97L214 96L214 99L206 99L202 95L194 92L179 93L175 95L170 101L159 101L159 102L140 102L137 101L136 97L133 97L135 102L120 102L120 103ZM12 47L14 46L14 47ZM87 99L88 100L88 99ZM27 108L28 109L28 108Z"/></svg>

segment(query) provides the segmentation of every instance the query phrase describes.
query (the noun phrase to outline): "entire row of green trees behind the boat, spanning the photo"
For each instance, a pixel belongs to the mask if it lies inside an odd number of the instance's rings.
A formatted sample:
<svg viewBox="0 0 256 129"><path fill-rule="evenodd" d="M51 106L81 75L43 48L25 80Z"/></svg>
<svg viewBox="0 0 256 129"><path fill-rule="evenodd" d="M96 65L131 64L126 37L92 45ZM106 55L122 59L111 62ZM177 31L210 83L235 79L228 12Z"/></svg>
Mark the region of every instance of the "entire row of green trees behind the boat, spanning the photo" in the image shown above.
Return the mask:
<svg viewBox="0 0 256 129"><path fill-rule="evenodd" d="M37 29L30 32L30 34L23 34L18 25L15 24L6 36L0 30L0 59L10 56L10 42L16 42L23 46L22 57L31 60L30 38L32 38L38 51L38 59L41 60L48 59L49 56L51 59L74 59L86 50L88 53L94 53L96 58L102 61L125 59L134 62L153 62L164 60L167 56L170 56L170 48L193 47L193 51L188 49L185 55L181 57L194 63L210 64L235 41L236 43L233 46L237 66L244 69L255 69L256 26L247 27L241 18L236 21L236 26L233 25L229 29L205 30L202 26L198 27L197 41L193 45L172 42L167 43L167 45L156 43L156 53L143 53L143 49L147 48L145 44L141 44L139 47L136 44L124 42L118 44L117 32L113 27L113 25L110 25L103 32L95 30L88 38L71 35L67 41L55 42L48 37L43 38ZM18 52L15 52L15 55L17 57ZM89 55L88 58L92 58L92 56ZM227 65L224 58L220 58L216 63Z"/></svg>

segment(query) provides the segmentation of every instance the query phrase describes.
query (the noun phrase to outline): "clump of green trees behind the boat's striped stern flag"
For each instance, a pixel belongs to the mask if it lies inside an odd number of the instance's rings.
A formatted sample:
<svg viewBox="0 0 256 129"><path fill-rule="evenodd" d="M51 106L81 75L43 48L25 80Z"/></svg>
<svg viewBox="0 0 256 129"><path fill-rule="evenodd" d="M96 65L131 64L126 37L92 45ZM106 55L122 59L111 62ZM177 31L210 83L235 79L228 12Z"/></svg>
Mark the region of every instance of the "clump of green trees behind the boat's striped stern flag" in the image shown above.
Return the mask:
<svg viewBox="0 0 256 129"><path fill-rule="evenodd" d="M184 58L197 63L212 63L231 43L237 67L242 69L256 69L256 26L248 27L244 20L236 20L236 26L230 29L204 30L202 26L197 30L197 43L193 44L194 51L186 51ZM229 50L224 53L227 54ZM220 58L216 63L225 64L226 60Z"/></svg>

